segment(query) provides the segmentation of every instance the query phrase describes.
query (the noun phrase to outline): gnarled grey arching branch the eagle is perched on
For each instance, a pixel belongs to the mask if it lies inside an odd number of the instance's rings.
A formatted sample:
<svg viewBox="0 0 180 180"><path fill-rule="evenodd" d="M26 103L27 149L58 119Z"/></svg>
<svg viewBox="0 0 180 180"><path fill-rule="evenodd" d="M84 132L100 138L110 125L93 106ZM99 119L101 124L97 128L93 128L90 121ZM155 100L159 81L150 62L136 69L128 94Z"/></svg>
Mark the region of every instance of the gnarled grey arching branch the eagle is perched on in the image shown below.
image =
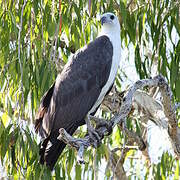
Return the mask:
<svg viewBox="0 0 180 180"><path fill-rule="evenodd" d="M164 106L165 115L168 118L168 122L170 126L169 136L172 139L172 142L174 142L174 148L176 154L179 155L180 138L178 136L179 131L176 130L177 120L175 116L175 108L171 104L172 92L162 75L155 76L153 79L139 80L136 83L134 83L134 85L129 88L128 92L126 93L123 99L119 114L115 115L110 120L109 125L112 126L112 128L115 125L119 125L120 128L124 130L125 134L129 138L132 138L134 142L138 144L140 150L143 150L145 148L145 144L142 138L126 128L126 118L130 114L132 108L133 95L138 89L143 89L144 87L160 87L160 92L163 97L162 103ZM108 129L107 127L104 126L97 128L96 131L98 132L98 134L100 134L100 137L102 137L101 140L104 138L104 135L108 134ZM59 133L60 133L58 137L59 140L63 140L66 144L71 145L78 151L78 161L80 160L79 161L80 163L84 162L83 160L84 150L87 149L87 147L89 146L95 147L93 142L90 141L88 135L85 136L84 138L73 138L63 128L59 130Z"/></svg>

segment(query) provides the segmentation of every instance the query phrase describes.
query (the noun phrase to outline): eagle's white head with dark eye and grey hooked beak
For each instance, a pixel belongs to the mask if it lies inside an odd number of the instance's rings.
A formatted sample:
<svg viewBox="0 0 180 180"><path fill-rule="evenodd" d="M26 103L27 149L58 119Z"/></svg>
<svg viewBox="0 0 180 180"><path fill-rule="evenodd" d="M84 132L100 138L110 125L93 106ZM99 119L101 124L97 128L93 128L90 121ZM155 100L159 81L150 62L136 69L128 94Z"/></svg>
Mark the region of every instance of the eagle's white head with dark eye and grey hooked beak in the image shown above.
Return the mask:
<svg viewBox="0 0 180 180"><path fill-rule="evenodd" d="M120 24L118 17L113 13L105 13L101 16L101 32L100 35L119 34Z"/></svg>

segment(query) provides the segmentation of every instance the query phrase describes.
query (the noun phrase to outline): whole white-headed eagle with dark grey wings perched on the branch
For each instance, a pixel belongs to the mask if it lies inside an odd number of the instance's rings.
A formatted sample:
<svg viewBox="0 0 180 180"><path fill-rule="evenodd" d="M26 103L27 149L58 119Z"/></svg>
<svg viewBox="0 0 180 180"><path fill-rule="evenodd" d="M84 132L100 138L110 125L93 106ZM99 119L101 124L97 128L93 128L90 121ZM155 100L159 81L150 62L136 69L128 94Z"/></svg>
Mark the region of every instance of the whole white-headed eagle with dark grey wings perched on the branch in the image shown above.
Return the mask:
<svg viewBox="0 0 180 180"><path fill-rule="evenodd" d="M51 170L66 144L58 140L59 129L70 135L94 115L111 90L118 71L121 39L118 17L105 13L100 18L97 38L79 49L58 74L41 99L35 130L41 136L40 163Z"/></svg>

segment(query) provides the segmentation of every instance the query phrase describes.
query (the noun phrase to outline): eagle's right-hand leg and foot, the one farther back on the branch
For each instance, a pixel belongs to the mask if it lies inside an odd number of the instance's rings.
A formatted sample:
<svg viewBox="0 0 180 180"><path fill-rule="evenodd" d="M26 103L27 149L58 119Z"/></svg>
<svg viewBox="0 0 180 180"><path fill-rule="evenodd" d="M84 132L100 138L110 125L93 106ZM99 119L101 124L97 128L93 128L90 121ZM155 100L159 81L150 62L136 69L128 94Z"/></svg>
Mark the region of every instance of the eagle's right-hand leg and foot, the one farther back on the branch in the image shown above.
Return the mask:
<svg viewBox="0 0 180 180"><path fill-rule="evenodd" d="M112 122L109 122L109 121L106 121L105 119L98 118L98 117L91 116L91 115L89 115L89 118L91 118L95 121L96 129L105 126L108 131L107 135L110 135L112 133Z"/></svg>

